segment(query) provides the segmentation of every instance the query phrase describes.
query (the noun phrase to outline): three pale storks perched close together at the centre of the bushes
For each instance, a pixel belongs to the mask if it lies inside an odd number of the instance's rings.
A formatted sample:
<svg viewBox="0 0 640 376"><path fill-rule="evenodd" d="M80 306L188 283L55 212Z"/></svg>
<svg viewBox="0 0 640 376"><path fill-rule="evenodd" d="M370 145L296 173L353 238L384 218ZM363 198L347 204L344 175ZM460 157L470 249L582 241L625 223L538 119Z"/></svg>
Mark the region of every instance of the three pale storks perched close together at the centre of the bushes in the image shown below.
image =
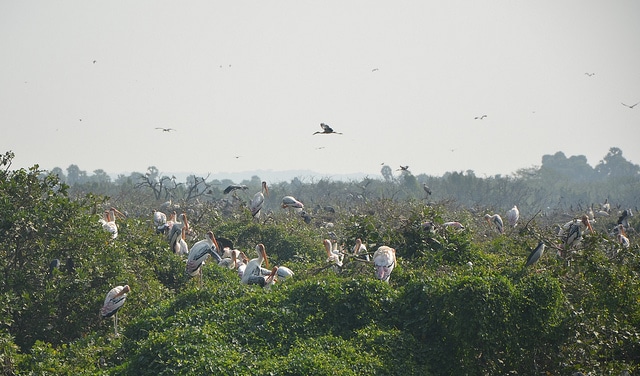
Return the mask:
<svg viewBox="0 0 640 376"><path fill-rule="evenodd" d="M327 262L338 267L342 266L345 253L338 250L338 243L331 242L329 239L324 239L322 243L327 252ZM352 254L355 257L362 256L366 261L370 261L367 247L362 243L361 239L356 239ZM373 264L376 268L376 278L389 283L391 272L396 266L396 250L386 245L380 246L373 253Z"/></svg>

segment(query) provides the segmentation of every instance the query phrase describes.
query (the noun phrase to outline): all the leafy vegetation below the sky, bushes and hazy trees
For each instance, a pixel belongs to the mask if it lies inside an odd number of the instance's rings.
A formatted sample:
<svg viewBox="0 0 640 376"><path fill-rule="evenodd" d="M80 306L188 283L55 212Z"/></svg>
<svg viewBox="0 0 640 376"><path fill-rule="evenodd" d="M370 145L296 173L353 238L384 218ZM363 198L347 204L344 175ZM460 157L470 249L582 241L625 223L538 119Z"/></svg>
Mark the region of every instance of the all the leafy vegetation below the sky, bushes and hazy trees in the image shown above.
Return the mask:
<svg viewBox="0 0 640 376"><path fill-rule="evenodd" d="M254 219L248 201L260 190L257 177L242 182L246 192L230 195L222 193L228 182L194 177L181 186L155 168L117 183L96 174L100 184L82 182L74 168L65 183L38 166L11 170L13 154L6 153L1 373L639 372L640 228L631 217L627 248L610 233L619 211L635 210L638 167L615 148L591 170L580 158L545 157L539 170L504 178L404 171L396 178L385 171L384 180L351 183L296 179L270 187L264 213ZM572 176L576 166L582 172ZM281 208L284 195L305 202L310 219ZM585 231L560 256L554 225L599 209L603 198L612 202L611 214L596 218L595 232ZM499 234L484 221L485 213L502 214L514 203L522 215L517 227ZM98 222L111 206L128 214L118 219L115 239ZM213 231L253 258L263 243L270 263L295 275L265 290L209 260L200 284L185 273L184 256L155 232L152 209L187 213L189 245ZM450 221L464 228L443 225ZM342 266L326 262L322 240L331 237L347 253ZM357 238L369 254L381 245L396 249L390 283L352 255ZM525 268L540 240L545 253ZM50 268L54 259L59 266ZM124 284L131 292L116 335L99 310L106 293Z"/></svg>

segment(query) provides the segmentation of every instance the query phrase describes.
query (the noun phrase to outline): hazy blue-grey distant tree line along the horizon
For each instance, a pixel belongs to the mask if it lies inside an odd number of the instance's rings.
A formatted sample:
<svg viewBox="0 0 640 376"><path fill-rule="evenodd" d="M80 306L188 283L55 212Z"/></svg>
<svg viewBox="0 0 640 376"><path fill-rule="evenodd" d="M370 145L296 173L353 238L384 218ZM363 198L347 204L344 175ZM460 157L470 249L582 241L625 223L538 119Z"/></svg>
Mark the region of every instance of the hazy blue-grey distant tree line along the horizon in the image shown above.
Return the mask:
<svg viewBox="0 0 640 376"><path fill-rule="evenodd" d="M523 168L511 175L479 177L473 170L447 172L442 176L414 175L409 170L394 174L387 165L380 173L381 179L360 181L298 177L289 182L278 182L270 186L273 195L267 201L267 208L277 207L281 196L289 194L309 208L326 205L348 208L354 202L378 198L449 201L461 207L489 207L496 211L518 205L525 212L543 214L585 211L605 200L618 209L634 208L637 211L640 206L640 166L626 160L622 150L616 147L612 147L595 167L587 163L585 156L567 158L559 151L544 155L541 166ZM260 190L261 184L258 176L234 182L191 175L185 182L178 182L175 176L162 174L156 166L150 166L145 173L119 175L113 181L104 170L95 170L90 175L75 164L66 169L66 174L59 167L48 174L57 175L60 181L69 185L72 197L92 193L111 197L116 202L133 198L132 204L155 200L158 204L171 201L184 206L210 203L224 207L235 200L249 200ZM244 184L248 189L234 196L223 194L230 184Z"/></svg>

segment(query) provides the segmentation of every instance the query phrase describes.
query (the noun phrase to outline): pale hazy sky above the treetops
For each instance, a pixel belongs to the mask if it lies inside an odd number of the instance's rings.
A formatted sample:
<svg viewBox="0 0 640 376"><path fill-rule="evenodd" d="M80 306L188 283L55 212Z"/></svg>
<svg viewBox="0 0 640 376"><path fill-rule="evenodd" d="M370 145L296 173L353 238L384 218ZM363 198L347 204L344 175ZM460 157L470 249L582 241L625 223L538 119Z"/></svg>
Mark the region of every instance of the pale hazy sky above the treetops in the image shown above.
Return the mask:
<svg viewBox="0 0 640 376"><path fill-rule="evenodd" d="M13 168L640 164L637 0L0 0L0 51Z"/></svg>

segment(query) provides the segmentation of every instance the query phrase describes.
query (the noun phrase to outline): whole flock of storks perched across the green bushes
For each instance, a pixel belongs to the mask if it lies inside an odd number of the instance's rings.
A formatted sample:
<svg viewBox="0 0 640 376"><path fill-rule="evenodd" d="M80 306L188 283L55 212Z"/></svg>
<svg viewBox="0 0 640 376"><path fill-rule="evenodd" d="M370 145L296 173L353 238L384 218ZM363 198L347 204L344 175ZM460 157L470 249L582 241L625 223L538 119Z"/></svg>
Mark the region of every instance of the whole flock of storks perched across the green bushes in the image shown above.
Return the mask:
<svg viewBox="0 0 640 376"><path fill-rule="evenodd" d="M424 188L425 191L430 193L427 186ZM248 187L245 185L230 185L224 190L224 193L229 194L236 190L247 189ZM262 182L261 190L253 196L249 203L249 209L255 219L260 218L265 196L268 195L269 188L267 183ZM281 206L282 208L292 208L300 212L302 212L304 208L304 204L293 196L283 197ZM258 285L265 289L269 289L270 286L279 279L286 280L294 275L294 272L286 266L278 265L270 268L269 257L262 243L255 246L256 257L251 259L247 257L243 251L235 249L230 240L216 238L212 231L207 232L204 239L197 241L189 247L186 241L186 235L190 233L190 228L186 213L178 216L174 211L167 217L162 211L153 210L152 212L156 233L166 237L171 251L186 257L185 272L192 277L198 277L199 286L202 286L203 267L210 258L220 267L235 269L241 283ZM567 254L580 243L583 234L595 232L592 223L595 222L597 217L608 217L610 215L611 205L608 203L608 200L605 200L599 210L594 211L592 206L587 213L580 218L572 219L562 226L557 226L556 236L561 241L560 246L557 246L555 242L540 239L538 245L531 250L527 257L525 268L534 265L543 256L547 246L545 243L549 243L552 247L556 248L559 256L566 257ZM632 216L633 213L631 209L622 211L618 217L617 225L610 231L610 235L616 238L624 248L628 248L630 245L627 231L630 229L629 218ZM103 218L99 220L103 228L111 233L113 239L118 236L117 217L124 218L125 215L112 207L104 211ZM514 229L518 225L519 219L520 211L518 207L514 205L506 212L507 225ZM500 214L485 214L484 220L494 228L498 234L505 233L505 223ZM450 227L455 230L464 230L465 228L462 223L457 221L445 222L442 227ZM434 231L436 225L431 221L427 221L422 224L422 228L426 231ZM332 240L324 239L323 246L327 254L327 267L334 267L336 270L343 266L343 261L346 256L352 257L358 261L373 263L375 267L375 277L388 283L391 273L396 266L396 250L389 246L382 245L378 247L372 257L370 257L367 247L361 239L356 239L355 245L350 251L339 249L335 237L333 237ZM57 261L59 265L59 261L54 260L54 262L55 261ZM266 268L263 267L263 264ZM470 266L472 267L473 265L471 264ZM53 268L56 267L56 265L52 263L50 267ZM117 312L124 305L127 294L130 291L131 288L128 285L114 287L107 293L104 305L100 310L101 317L113 317L116 335L118 334Z"/></svg>

